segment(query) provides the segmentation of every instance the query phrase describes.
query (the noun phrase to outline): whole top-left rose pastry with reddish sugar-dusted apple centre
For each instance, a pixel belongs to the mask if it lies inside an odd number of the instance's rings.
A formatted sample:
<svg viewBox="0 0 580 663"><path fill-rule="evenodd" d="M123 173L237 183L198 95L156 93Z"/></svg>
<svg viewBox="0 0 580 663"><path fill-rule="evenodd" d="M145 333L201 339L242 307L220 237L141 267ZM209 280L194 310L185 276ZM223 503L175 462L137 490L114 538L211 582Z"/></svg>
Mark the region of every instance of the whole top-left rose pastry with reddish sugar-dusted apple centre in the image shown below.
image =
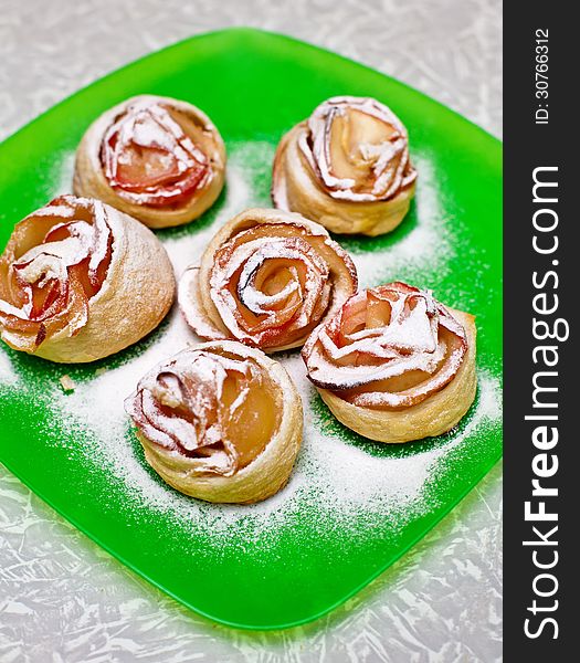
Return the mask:
<svg viewBox="0 0 580 663"><path fill-rule="evenodd" d="M225 148L209 117L169 97L143 95L94 122L76 152L74 192L150 228L179 225L211 207L223 187Z"/></svg>

